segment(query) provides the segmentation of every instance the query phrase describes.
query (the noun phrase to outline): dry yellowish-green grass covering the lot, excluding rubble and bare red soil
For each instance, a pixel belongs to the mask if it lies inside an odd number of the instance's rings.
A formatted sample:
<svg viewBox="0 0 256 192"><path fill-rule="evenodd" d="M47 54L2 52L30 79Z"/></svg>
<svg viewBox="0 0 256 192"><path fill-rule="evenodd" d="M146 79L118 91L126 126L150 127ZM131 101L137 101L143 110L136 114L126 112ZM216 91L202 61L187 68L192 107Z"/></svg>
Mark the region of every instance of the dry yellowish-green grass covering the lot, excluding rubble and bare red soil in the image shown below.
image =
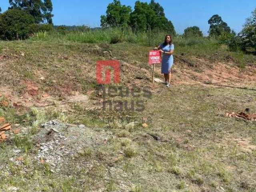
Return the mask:
<svg viewBox="0 0 256 192"><path fill-rule="evenodd" d="M122 65L124 84L150 85L152 98L145 102L143 112L102 114L98 108L88 109L86 102L70 103L67 99L79 92L91 96L89 106L100 105L97 103L100 98L90 94L96 88L94 63L111 56L102 55L96 45L70 42L1 42L0 45L2 54L9 56L0 62L3 76L0 84L12 88L12 99L26 96L26 86L20 86L23 80L39 87L38 96L28 101L35 105L33 108L14 108L11 101L8 107L0 108L0 116L13 124L30 126L29 134L17 135L0 144L0 162L8 165L8 170L0 170L0 188L4 191L12 186L20 191L46 192L198 192L217 191L220 187L229 192L256 190L256 152L245 150L236 142L238 138L249 138L250 144L256 145L256 122L224 116L227 111L240 112L245 108L256 112L255 90L211 84L176 84L166 89L162 84L148 83L147 78L134 80L136 76L150 75L150 68L142 62L148 47L104 45L104 49L115 52L117 59L136 67L130 73L128 65ZM20 52L25 52L25 56L20 56ZM132 61L134 54L136 59ZM142 75L144 70L147 72ZM40 80L42 76L45 80ZM46 102L40 97L45 92L51 96L48 102L50 99L54 102L47 107L37 106ZM125 124L106 126L99 117L108 115L150 117L152 124L148 128L141 124L132 128ZM111 138L97 148L88 145L57 174L50 165L38 164L32 158L36 148L30 139L31 134L40 131L40 123L55 118L85 124L94 132L106 130L112 133ZM24 156L19 165L9 160L16 147Z"/></svg>

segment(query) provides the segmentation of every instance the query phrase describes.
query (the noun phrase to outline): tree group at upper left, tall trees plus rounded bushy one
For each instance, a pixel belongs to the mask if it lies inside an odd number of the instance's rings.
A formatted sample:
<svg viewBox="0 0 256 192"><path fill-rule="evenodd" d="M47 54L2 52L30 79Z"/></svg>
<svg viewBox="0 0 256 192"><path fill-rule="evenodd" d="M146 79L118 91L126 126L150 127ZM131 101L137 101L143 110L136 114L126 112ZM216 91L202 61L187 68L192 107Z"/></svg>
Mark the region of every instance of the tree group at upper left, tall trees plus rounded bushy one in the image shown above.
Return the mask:
<svg viewBox="0 0 256 192"><path fill-rule="evenodd" d="M51 0L9 0L9 4L0 14L2 40L25 39L30 33L53 28Z"/></svg>

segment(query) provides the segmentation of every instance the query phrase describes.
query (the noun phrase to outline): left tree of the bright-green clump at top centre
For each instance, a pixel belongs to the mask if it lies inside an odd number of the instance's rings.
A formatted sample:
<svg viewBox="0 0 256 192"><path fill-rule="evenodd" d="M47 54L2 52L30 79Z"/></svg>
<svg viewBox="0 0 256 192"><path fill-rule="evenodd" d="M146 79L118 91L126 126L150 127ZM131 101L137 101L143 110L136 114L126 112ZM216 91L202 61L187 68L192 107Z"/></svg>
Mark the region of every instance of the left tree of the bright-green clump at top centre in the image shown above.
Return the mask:
<svg viewBox="0 0 256 192"><path fill-rule="evenodd" d="M132 8L130 6L121 5L120 1L114 0L108 4L106 16L101 16L100 25L102 27L126 27L128 26L131 12Z"/></svg>

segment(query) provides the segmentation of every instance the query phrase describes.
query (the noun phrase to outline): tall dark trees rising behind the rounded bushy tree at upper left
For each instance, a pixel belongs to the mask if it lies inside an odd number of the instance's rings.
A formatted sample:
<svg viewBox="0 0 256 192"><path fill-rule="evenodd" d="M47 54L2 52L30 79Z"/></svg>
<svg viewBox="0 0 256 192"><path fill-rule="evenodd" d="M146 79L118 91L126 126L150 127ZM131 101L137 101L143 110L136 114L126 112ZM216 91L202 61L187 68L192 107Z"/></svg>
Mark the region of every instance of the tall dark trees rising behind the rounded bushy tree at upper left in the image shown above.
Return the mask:
<svg viewBox="0 0 256 192"><path fill-rule="evenodd" d="M28 11L36 23L47 22L52 24L52 1L51 0L9 0L10 9L18 8Z"/></svg>

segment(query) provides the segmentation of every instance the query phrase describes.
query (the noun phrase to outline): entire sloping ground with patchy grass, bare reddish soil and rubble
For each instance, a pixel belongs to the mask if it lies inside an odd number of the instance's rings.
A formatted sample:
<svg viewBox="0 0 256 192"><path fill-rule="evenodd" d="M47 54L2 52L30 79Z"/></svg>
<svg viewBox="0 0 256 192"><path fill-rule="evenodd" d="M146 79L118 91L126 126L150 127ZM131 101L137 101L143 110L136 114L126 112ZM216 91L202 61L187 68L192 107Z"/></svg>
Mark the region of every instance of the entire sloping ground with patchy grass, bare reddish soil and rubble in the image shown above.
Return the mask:
<svg viewBox="0 0 256 192"><path fill-rule="evenodd" d="M256 112L255 63L240 68L222 52L177 48L168 89L150 82L151 48L138 44L28 40L0 42L0 49L0 95L8 102L0 116L20 128L0 143L4 191L256 190L256 122L225 116ZM149 87L152 96L112 99L129 107L142 99L142 112L102 112L96 61L113 59L120 86Z"/></svg>

